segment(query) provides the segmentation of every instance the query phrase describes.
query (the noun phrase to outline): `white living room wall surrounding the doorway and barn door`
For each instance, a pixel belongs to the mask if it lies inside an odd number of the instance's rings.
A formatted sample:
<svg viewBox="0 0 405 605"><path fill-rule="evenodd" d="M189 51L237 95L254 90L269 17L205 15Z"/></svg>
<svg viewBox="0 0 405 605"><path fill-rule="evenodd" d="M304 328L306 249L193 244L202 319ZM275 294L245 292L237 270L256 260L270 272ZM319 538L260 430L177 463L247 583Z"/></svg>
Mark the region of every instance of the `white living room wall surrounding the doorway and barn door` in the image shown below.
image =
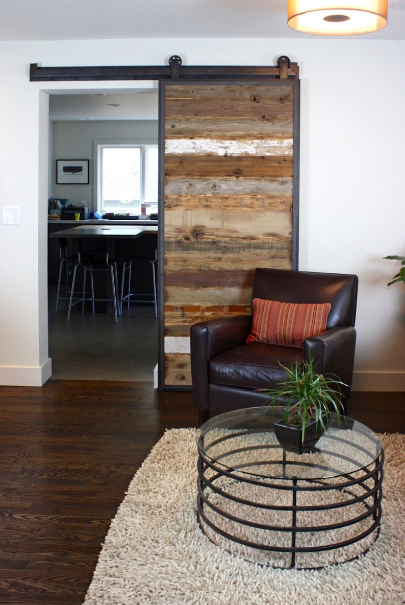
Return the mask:
<svg viewBox="0 0 405 605"><path fill-rule="evenodd" d="M389 289L405 254L403 149L405 42L362 39L205 39L1 42L0 205L21 224L0 224L0 384L49 376L46 313L46 148L40 91L133 88L133 82L29 82L29 64L272 65L281 54L301 76L299 267L357 273L354 390L405 390L405 290ZM91 86L90 86L91 85ZM40 119L41 118L41 119ZM47 136L47 133L46 133ZM43 181L45 180L45 187ZM43 211L42 211L43 208Z"/></svg>

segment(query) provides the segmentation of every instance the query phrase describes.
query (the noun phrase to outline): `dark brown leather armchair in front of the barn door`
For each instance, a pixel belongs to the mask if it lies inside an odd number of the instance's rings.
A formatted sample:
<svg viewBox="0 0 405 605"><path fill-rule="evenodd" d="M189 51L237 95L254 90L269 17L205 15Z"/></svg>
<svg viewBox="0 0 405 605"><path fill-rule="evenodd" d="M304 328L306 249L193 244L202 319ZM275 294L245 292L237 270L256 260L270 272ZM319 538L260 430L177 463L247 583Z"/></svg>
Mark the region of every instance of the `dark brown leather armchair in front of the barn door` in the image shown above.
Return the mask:
<svg viewBox="0 0 405 605"><path fill-rule="evenodd" d="M302 365L311 356L320 374L333 374L346 404L352 381L356 347L358 278L339 273L313 273L281 269L256 269L254 298L281 302L330 302L327 329L304 341L301 347L249 342L253 315L211 319L191 327L191 377L199 422L209 413L259 406L266 393L257 389L276 384L285 376L281 365ZM253 314L253 305L252 305Z"/></svg>

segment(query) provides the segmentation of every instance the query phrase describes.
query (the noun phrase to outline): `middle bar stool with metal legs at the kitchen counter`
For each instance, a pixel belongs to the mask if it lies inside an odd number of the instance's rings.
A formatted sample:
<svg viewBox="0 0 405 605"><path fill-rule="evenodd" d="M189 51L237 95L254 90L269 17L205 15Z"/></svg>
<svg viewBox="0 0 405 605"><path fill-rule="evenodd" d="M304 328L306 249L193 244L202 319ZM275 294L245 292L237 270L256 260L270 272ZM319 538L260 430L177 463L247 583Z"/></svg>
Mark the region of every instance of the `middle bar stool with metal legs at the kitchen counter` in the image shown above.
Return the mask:
<svg viewBox="0 0 405 605"><path fill-rule="evenodd" d="M78 267L83 267L84 275L83 275L83 294L81 298L73 301L74 299L74 287L77 276ZM87 272L90 272L90 280L91 280L91 295L86 295L86 276ZM112 287L112 298L95 298L94 296L94 271L108 271L111 275L111 287ZM71 295L69 299L69 310L68 310L68 321L70 321L71 310L75 304L81 302L81 313L85 313L85 302L92 303L92 311L95 313L95 301L104 301L104 302L113 302L114 313L115 313L115 321L118 322L118 315L121 315L121 307L120 300L117 298L118 293L118 273L116 268L116 261L109 258L108 249L105 255L83 255L81 253L81 240L78 240L78 260L74 267L73 278L72 278L72 286L71 286Z"/></svg>

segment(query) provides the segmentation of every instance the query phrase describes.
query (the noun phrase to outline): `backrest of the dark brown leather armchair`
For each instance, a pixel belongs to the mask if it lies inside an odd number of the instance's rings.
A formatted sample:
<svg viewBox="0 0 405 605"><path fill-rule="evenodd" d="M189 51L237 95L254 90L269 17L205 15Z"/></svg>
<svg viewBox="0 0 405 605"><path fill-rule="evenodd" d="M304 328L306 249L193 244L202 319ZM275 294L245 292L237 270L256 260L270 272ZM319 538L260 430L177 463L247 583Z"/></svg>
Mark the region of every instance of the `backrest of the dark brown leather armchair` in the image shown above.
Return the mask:
<svg viewBox="0 0 405 605"><path fill-rule="evenodd" d="M299 304L329 302L327 330L354 326L358 283L357 275L258 268L252 288L252 315L255 298Z"/></svg>

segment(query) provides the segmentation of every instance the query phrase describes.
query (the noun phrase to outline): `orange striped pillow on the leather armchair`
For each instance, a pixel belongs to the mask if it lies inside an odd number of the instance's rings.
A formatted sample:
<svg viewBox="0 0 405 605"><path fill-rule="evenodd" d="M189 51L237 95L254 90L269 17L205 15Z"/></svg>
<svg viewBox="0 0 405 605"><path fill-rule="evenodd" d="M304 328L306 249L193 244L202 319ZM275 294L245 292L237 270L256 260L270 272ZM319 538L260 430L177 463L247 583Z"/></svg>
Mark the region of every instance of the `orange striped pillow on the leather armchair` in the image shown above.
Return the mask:
<svg viewBox="0 0 405 605"><path fill-rule="evenodd" d="M325 332L330 302L298 304L295 302L253 299L252 328L246 342L302 347L304 340Z"/></svg>

